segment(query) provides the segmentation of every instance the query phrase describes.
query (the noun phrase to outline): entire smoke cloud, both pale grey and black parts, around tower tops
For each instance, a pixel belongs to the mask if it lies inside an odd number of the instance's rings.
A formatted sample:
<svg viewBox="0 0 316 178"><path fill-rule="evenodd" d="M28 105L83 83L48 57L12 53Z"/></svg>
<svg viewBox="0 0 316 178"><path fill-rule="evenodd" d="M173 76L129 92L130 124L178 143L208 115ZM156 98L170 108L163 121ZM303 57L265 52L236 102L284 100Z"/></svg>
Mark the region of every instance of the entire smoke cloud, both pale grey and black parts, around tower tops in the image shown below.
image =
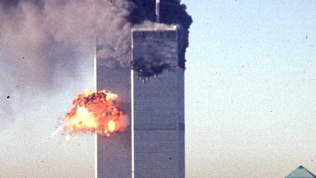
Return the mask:
<svg viewBox="0 0 316 178"><path fill-rule="evenodd" d="M160 4L161 23L180 24L186 32L180 49L184 68L192 18L179 0ZM0 77L1 97L16 84L54 89L56 72L76 78L79 62L92 56L95 42L102 65L132 68L131 28L155 20L155 0L1 0L0 69L8 71Z"/></svg>

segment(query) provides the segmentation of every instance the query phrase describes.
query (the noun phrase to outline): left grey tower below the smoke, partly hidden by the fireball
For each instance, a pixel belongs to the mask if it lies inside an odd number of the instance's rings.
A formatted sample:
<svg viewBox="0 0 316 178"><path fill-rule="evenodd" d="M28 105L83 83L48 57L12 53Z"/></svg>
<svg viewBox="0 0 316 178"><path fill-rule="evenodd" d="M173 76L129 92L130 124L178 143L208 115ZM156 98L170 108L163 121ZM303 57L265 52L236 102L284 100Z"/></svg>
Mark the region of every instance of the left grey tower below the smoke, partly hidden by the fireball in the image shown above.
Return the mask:
<svg viewBox="0 0 316 178"><path fill-rule="evenodd" d="M131 72L129 68L108 68L95 62L95 85L97 90L108 90L118 95L118 107L131 116ZM132 150L131 127L109 137L95 136L95 177L131 178Z"/></svg>

